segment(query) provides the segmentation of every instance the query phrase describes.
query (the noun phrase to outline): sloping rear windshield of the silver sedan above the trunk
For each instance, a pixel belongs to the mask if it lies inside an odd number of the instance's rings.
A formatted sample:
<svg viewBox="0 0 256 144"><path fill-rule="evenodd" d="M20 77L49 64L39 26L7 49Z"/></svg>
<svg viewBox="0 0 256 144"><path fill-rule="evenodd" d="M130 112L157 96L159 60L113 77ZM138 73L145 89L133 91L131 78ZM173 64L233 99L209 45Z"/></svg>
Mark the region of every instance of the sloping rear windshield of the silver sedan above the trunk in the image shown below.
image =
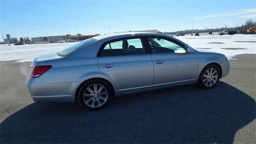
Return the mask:
<svg viewBox="0 0 256 144"><path fill-rule="evenodd" d="M71 52L74 52L78 48L81 48L82 46L86 46L87 44L90 44L94 41L96 41L96 40L94 40L92 38L88 38L86 40L83 40L82 42L78 42L76 44L73 44L72 46L65 48L64 50L58 52L57 54L59 56L66 56L66 55L70 54Z"/></svg>

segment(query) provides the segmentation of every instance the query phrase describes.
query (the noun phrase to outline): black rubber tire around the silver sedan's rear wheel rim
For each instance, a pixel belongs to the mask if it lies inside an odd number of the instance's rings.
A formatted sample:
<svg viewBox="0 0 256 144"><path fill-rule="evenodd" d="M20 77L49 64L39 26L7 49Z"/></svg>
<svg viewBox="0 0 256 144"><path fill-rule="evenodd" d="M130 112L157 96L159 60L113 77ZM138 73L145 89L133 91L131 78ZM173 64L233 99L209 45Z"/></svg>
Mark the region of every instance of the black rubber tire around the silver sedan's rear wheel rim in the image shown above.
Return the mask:
<svg viewBox="0 0 256 144"><path fill-rule="evenodd" d="M104 104L100 105L99 103L102 103L104 100L100 99L99 96L92 96L91 98L93 98L92 100L89 101L89 103L86 103L86 98L88 97L88 99L90 99L90 96L86 96L84 97L84 94L88 93L89 91L87 90L88 87L92 88L91 86L94 86L94 84L98 84L97 86L104 86L107 90L107 95L104 96L104 98L106 98L107 100L104 102ZM99 89L97 88L96 89ZM105 90L104 88L104 90ZM89 93L90 94L90 93ZM87 94L86 94L87 95ZM87 110L100 110L102 108L104 108L105 106L108 105L108 103L110 102L110 99L114 96L114 92L112 92L112 89L110 88L109 84L103 80L90 80L88 82L85 82L84 84L82 84L82 86L80 87L79 91L78 91L78 102L80 103L80 105L83 108L86 108ZM100 96L101 97L101 96ZM103 96L102 96L103 97ZM88 100L87 99L87 100ZM98 100L100 102L98 102ZM97 103L97 107L91 107L88 105L91 105L90 102L94 101L94 104ZM93 105L94 105L93 104Z"/></svg>

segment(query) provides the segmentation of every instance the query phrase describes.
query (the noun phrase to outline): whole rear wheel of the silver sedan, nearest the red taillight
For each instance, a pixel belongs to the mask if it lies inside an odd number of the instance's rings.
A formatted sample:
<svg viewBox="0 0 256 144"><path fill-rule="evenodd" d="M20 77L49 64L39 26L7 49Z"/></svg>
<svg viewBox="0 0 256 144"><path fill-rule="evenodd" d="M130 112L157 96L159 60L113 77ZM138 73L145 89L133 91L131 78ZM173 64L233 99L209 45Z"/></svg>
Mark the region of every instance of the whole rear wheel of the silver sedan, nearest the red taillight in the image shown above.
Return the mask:
<svg viewBox="0 0 256 144"><path fill-rule="evenodd" d="M78 101L88 110L99 110L108 104L112 95L113 92L106 82L90 80L80 87Z"/></svg>

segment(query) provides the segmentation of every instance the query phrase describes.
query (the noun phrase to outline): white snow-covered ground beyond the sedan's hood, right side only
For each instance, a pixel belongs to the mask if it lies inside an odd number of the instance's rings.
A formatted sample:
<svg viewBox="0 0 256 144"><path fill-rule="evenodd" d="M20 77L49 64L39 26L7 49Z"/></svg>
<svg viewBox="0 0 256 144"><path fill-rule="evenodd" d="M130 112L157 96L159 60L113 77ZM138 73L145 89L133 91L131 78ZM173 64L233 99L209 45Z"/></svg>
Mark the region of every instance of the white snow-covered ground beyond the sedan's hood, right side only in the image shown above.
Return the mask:
<svg viewBox="0 0 256 144"><path fill-rule="evenodd" d="M176 36L175 38L195 49L225 54L228 59L234 59L238 54L256 54L256 35L252 34Z"/></svg>

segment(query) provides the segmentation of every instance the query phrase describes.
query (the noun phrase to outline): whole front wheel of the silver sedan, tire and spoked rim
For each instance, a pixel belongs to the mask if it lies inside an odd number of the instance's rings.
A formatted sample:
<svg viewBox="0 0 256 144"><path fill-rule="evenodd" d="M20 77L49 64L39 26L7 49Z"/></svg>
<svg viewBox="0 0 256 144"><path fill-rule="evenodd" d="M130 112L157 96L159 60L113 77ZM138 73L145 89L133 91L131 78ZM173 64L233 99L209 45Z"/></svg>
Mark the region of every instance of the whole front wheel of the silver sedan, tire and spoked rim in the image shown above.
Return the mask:
<svg viewBox="0 0 256 144"><path fill-rule="evenodd" d="M198 80L198 84L201 88L212 88L214 87L220 79L220 70L216 65L208 65L206 66Z"/></svg>

